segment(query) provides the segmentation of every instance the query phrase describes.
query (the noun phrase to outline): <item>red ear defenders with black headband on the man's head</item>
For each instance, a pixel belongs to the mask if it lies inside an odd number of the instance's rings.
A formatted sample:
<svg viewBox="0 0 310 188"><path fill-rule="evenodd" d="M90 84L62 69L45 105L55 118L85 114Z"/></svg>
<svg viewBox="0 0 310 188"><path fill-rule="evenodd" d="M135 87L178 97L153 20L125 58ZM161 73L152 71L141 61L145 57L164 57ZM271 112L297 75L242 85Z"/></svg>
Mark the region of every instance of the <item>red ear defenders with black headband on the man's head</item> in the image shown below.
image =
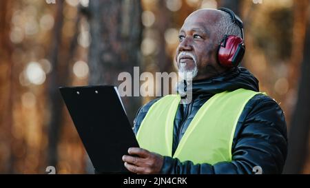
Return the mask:
<svg viewBox="0 0 310 188"><path fill-rule="evenodd" d="M229 10L228 8L218 8L218 10L227 12L230 15L232 23L236 23L238 25L242 36L242 38L240 38L239 36L235 35L227 35L227 27L225 37L218 47L218 63L220 63L220 65L223 67L236 67L242 61L242 58L245 54L243 23L232 10Z"/></svg>

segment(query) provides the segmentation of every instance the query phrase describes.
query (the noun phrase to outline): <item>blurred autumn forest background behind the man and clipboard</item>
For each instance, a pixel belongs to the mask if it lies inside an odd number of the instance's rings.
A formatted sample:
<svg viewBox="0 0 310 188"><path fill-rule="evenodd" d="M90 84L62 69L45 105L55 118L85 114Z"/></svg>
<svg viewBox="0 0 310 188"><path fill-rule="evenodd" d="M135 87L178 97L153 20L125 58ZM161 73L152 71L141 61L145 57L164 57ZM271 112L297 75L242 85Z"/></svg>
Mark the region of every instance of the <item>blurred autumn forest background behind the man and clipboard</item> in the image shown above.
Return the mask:
<svg viewBox="0 0 310 188"><path fill-rule="evenodd" d="M285 173L310 174L309 0L1 0L0 174L92 174L58 87L175 71L185 18L223 6L245 23L242 66L285 112ZM131 122L150 99L123 98Z"/></svg>

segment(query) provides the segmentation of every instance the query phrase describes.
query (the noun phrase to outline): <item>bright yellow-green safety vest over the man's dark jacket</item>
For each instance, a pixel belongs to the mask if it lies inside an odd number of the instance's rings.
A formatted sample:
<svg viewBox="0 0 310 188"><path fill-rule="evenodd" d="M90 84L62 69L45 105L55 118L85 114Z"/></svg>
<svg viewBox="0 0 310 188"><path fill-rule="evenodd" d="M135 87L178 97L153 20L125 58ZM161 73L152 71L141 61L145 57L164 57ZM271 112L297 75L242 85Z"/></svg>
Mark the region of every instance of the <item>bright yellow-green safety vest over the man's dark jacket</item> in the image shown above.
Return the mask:
<svg viewBox="0 0 310 188"><path fill-rule="evenodd" d="M231 145L243 108L256 94L251 90L215 94L198 110L180 140L173 158L194 164L231 161ZM172 156L174 117L180 95L156 101L143 119L136 138L141 148Z"/></svg>

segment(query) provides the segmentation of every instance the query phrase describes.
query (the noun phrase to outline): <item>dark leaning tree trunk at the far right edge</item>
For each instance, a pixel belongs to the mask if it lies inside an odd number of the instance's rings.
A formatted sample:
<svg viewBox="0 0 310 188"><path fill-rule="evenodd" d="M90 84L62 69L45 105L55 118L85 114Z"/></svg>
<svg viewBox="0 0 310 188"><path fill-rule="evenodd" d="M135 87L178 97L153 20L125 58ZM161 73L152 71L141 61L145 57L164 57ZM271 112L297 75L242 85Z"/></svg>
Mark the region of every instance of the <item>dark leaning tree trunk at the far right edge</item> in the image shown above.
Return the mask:
<svg viewBox="0 0 310 188"><path fill-rule="evenodd" d="M289 153L285 165L285 174L299 174L307 158L310 125L310 22L307 25L304 55L300 67L298 101L291 118L289 130Z"/></svg>

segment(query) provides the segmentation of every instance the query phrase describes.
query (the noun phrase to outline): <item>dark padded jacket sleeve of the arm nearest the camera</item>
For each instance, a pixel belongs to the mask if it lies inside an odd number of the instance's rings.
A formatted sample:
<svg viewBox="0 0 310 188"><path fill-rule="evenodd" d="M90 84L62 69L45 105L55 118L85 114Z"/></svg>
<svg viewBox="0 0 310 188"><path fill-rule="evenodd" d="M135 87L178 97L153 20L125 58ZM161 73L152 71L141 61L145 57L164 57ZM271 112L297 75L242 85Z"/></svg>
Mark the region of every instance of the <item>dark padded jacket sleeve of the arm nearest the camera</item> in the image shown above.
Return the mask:
<svg viewBox="0 0 310 188"><path fill-rule="evenodd" d="M258 94L251 98L244 112L236 127L231 162L194 165L164 156L161 173L254 174L256 166L262 174L282 173L287 156L287 127L282 109L276 101Z"/></svg>

